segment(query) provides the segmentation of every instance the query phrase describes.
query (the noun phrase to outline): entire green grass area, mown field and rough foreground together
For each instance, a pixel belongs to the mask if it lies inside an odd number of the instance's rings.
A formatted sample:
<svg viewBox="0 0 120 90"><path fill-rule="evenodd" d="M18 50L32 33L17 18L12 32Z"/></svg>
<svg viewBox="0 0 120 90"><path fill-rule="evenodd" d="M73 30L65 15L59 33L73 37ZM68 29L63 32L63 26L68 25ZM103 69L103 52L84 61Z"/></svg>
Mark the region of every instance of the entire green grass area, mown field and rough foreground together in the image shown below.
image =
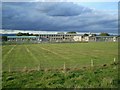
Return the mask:
<svg viewBox="0 0 120 90"><path fill-rule="evenodd" d="M117 62L116 42L3 45L2 86L117 88Z"/></svg>

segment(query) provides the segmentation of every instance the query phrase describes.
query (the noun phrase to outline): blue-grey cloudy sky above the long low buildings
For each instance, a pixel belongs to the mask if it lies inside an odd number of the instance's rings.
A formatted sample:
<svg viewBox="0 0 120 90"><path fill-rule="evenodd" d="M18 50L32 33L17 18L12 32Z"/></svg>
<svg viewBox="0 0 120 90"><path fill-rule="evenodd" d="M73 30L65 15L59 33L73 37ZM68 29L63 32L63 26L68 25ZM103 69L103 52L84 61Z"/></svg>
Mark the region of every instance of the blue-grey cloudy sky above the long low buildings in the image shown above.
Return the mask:
<svg viewBox="0 0 120 90"><path fill-rule="evenodd" d="M2 29L118 31L117 2L3 2Z"/></svg>

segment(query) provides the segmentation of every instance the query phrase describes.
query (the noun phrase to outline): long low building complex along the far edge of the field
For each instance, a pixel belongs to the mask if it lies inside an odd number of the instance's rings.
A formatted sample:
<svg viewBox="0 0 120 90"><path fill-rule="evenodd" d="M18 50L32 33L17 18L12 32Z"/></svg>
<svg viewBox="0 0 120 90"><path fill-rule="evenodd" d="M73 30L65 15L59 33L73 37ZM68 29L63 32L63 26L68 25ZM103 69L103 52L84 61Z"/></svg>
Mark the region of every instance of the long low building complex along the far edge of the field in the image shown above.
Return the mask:
<svg viewBox="0 0 120 90"><path fill-rule="evenodd" d="M84 36L81 34L40 34L39 36L8 36L8 41L31 42L116 42L118 36Z"/></svg>

